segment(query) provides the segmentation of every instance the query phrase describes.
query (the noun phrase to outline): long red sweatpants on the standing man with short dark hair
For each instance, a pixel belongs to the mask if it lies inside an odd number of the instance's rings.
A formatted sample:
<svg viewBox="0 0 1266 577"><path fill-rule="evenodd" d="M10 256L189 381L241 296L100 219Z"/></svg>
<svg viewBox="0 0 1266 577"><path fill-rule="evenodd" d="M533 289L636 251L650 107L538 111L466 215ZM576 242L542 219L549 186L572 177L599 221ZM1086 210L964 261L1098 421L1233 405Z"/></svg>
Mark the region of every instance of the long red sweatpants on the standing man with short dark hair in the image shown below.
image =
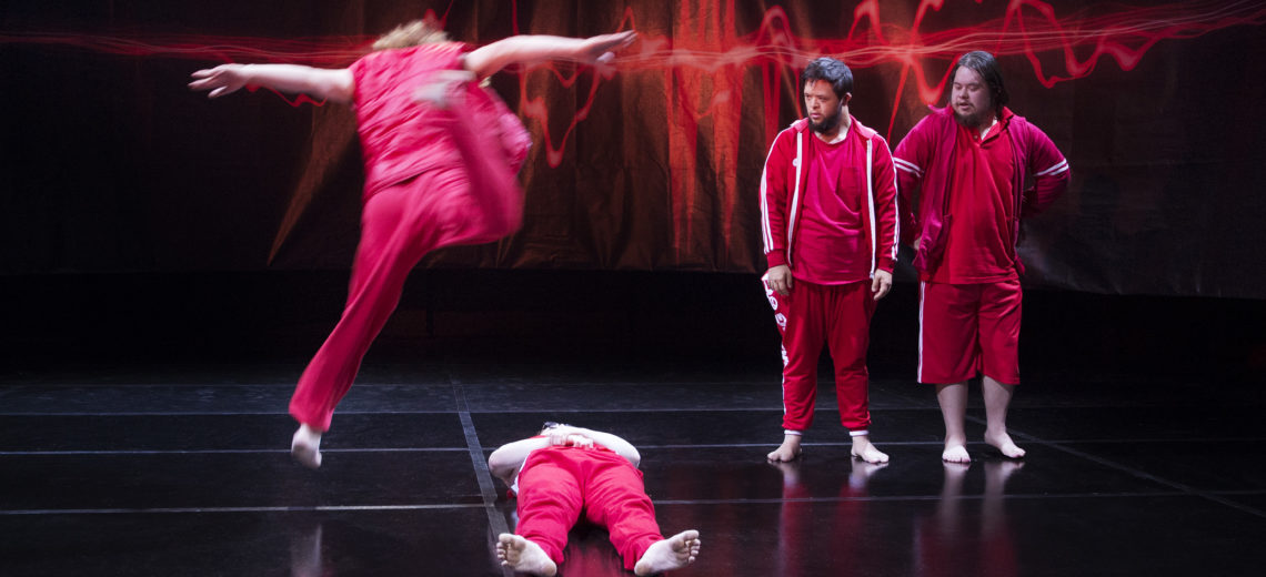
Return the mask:
<svg viewBox="0 0 1266 577"><path fill-rule="evenodd" d="M804 431L813 424L818 358L825 345L836 366L839 423L853 434L863 434L870 428L866 349L875 314L871 281L815 285L796 278L787 296L762 281L782 333L782 428Z"/></svg>

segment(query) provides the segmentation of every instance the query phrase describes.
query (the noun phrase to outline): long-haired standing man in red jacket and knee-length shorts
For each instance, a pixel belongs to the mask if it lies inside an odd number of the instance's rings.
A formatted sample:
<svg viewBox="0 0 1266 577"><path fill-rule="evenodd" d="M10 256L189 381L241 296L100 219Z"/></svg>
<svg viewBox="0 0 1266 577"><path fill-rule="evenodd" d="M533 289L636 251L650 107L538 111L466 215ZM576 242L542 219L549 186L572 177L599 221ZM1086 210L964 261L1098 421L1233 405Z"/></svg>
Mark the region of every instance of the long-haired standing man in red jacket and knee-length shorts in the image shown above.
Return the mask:
<svg viewBox="0 0 1266 577"><path fill-rule="evenodd" d="M967 380L984 373L985 443L1024 457L1006 433L1019 383L1020 216L1069 186L1069 161L1006 108L998 61L958 58L950 104L933 109L896 147L903 238L919 271L919 382L937 386L946 424L942 459L971 462L963 420ZM1033 187L1025 190L1025 178Z"/></svg>

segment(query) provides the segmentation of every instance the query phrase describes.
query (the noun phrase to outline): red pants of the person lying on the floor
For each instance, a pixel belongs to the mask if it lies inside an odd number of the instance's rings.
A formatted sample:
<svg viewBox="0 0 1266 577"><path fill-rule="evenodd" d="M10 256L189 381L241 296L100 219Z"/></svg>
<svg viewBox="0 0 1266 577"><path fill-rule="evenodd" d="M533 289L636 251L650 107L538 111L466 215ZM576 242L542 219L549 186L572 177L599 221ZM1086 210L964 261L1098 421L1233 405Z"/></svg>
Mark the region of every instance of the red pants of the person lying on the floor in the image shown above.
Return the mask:
<svg viewBox="0 0 1266 577"><path fill-rule="evenodd" d="M519 524L514 533L541 545L555 563L563 562L567 531L581 515L606 529L628 571L651 544L663 540L642 472L611 450L536 449L523 464L518 485Z"/></svg>

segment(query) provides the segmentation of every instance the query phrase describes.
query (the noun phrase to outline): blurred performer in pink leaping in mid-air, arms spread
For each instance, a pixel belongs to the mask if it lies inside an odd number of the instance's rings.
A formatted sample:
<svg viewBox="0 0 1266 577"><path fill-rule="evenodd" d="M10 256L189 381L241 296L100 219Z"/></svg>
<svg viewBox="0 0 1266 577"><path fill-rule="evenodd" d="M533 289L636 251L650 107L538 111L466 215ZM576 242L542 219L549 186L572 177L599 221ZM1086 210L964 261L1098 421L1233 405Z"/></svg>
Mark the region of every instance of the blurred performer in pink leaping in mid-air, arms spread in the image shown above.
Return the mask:
<svg viewBox="0 0 1266 577"><path fill-rule="evenodd" d="M430 22L401 25L348 68L223 65L194 72L210 97L243 86L306 94L356 108L365 154L361 242L347 306L304 371L290 414L290 452L320 467L320 437L361 359L395 310L409 271L428 252L496 240L519 228L515 173L530 144L518 118L479 80L511 63L609 62L634 32L592 38L518 35L472 48Z"/></svg>

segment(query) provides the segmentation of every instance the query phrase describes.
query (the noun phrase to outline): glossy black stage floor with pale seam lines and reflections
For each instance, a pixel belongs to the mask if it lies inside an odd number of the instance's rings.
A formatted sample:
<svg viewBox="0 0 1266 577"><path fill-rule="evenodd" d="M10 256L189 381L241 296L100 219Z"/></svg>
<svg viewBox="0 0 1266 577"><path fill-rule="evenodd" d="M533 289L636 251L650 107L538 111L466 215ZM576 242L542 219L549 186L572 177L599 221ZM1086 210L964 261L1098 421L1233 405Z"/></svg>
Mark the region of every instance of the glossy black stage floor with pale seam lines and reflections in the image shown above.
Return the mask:
<svg viewBox="0 0 1266 577"><path fill-rule="evenodd" d="M27 371L0 381L0 574L495 576L513 501L476 461L543 420L642 449L695 576L1260 574L1266 429L1257 387L1031 377L1023 462L939 461L932 394L876 376L848 456L823 386L805 458L772 466L777 367L495 359L367 364L324 440L290 462L300 364ZM974 388L979 400L979 390ZM979 439L982 411L970 413ZM565 576L625 574L577 529Z"/></svg>

